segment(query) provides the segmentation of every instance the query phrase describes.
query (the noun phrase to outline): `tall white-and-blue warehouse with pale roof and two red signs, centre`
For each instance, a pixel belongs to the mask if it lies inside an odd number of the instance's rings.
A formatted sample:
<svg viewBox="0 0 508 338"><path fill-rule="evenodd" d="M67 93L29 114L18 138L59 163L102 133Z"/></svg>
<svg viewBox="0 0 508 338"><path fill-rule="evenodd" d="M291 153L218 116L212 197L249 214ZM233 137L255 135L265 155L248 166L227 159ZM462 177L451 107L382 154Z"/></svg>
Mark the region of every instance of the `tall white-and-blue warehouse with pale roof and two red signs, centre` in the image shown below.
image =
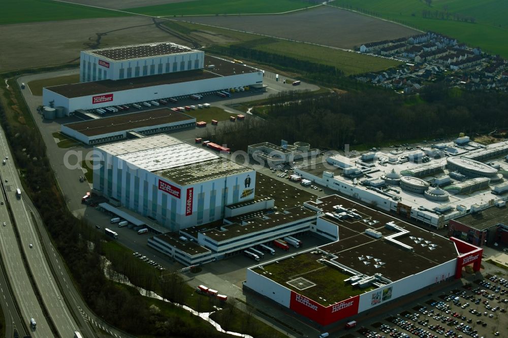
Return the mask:
<svg viewBox="0 0 508 338"><path fill-rule="evenodd" d="M94 148L93 189L168 230L224 218L254 197L256 172L166 134Z"/></svg>

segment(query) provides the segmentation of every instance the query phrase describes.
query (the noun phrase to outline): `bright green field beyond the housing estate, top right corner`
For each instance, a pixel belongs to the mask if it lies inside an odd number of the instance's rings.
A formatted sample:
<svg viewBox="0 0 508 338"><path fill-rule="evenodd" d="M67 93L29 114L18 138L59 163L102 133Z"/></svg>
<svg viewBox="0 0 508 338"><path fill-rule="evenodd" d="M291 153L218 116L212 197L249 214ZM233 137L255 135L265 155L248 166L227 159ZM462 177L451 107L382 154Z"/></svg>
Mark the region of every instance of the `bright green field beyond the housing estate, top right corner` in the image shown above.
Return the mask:
<svg viewBox="0 0 508 338"><path fill-rule="evenodd" d="M508 44L503 42L508 36L505 0L433 0L430 7L420 0L335 0L331 5L437 31L470 47L480 46L484 51L508 57ZM457 18L473 18L474 22Z"/></svg>

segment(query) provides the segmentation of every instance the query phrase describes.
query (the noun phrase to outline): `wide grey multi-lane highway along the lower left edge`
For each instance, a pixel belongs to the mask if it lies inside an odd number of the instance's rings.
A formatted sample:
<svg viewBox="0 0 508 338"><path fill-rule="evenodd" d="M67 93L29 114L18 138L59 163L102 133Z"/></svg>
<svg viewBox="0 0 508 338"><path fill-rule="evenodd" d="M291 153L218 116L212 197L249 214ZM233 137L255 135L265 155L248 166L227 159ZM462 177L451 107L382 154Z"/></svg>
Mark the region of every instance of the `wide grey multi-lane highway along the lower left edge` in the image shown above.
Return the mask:
<svg viewBox="0 0 508 338"><path fill-rule="evenodd" d="M13 226L7 215L6 205L4 204L2 206L2 216L4 219L2 222L5 221L7 225L5 227L2 226L2 231L4 231L2 236L3 257L6 260L7 270L10 271L9 276L11 281L19 294L18 303L21 312L27 321L32 317L37 321L37 329L33 330L32 336L54 336L44 318L42 309L35 296L35 291L32 290L27 272L23 266L21 252L24 252L42 300L56 325L59 335L61 337L70 337L74 334L77 325L69 315L67 305L62 300L61 294L53 281L53 276L50 273L49 266L41 249L41 243L36 233L33 219L25 208L23 198L16 196L16 189L21 187L21 183L3 131L0 135L0 156L7 158L6 164L2 164L0 168L0 174L6 188L7 199L9 200L14 221L17 224L21 242L21 248L19 248ZM30 245L32 246L31 248Z"/></svg>

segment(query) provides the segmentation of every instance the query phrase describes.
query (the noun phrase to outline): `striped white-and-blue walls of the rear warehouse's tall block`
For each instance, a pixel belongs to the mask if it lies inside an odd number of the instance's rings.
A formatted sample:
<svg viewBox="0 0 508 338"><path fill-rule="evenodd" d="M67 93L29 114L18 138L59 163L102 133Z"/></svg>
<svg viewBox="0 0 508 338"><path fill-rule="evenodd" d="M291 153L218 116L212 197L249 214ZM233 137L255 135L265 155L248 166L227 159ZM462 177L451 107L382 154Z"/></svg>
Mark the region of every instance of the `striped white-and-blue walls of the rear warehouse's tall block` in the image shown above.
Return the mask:
<svg viewBox="0 0 508 338"><path fill-rule="evenodd" d="M204 67L205 53L203 51L184 46L179 48L186 51L121 60L101 56L99 55L101 50L81 51L79 81L121 80Z"/></svg>

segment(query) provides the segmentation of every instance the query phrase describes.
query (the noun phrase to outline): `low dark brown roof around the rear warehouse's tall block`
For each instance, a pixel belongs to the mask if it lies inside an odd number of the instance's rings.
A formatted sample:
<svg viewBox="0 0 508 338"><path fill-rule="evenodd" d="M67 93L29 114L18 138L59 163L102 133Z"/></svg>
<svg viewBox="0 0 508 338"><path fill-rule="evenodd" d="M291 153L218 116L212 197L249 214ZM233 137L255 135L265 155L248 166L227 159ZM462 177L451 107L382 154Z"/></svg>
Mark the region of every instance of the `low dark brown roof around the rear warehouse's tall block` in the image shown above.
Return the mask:
<svg viewBox="0 0 508 338"><path fill-rule="evenodd" d="M258 72L258 70L251 67L209 55L205 55L205 64L213 64L215 67L213 69L199 69L160 75L142 76L123 80L81 82L45 87L45 89L51 90L64 97L74 98L158 85L206 80L242 73ZM171 95L168 94L168 96Z"/></svg>

